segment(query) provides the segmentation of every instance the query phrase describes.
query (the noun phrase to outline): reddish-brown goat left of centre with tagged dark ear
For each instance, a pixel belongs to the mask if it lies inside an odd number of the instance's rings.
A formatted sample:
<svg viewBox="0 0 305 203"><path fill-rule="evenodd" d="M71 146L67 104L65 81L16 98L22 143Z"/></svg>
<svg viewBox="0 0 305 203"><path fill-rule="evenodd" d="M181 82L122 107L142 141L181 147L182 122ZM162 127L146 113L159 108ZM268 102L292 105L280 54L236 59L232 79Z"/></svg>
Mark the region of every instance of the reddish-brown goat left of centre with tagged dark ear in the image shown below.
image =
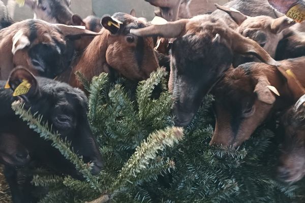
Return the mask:
<svg viewBox="0 0 305 203"><path fill-rule="evenodd" d="M132 28L145 27L145 22L129 14L116 13L104 17L102 23L101 35L94 38L74 61L72 70L63 74L60 80L82 87L75 71L80 71L89 80L102 72L115 72L134 81L147 79L158 67L153 39L130 33Z"/></svg>

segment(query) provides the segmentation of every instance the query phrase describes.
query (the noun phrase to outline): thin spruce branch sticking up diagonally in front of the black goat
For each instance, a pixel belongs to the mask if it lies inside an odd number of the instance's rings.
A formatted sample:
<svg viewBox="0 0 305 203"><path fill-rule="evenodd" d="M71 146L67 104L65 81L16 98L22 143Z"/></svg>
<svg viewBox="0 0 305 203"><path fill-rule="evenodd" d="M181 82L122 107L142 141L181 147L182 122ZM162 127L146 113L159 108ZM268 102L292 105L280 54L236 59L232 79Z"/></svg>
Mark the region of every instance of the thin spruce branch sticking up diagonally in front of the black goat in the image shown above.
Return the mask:
<svg viewBox="0 0 305 203"><path fill-rule="evenodd" d="M58 132L53 133L52 127L49 129L48 123L42 121L42 116L38 115L38 112L33 115L31 113L31 109L26 111L24 109L24 104L21 104L20 101L14 101L12 104L12 109L15 111L16 115L19 115L23 121L27 122L29 128L39 133L41 138L47 141L52 141L52 146L58 149L59 152L65 156L65 158L70 160L75 165L76 169L84 176L84 178L86 178L88 183L90 183L94 189L99 189L98 181L90 173L92 163L84 163L82 157L78 157L73 152L71 143L69 143L67 140L62 140Z"/></svg>

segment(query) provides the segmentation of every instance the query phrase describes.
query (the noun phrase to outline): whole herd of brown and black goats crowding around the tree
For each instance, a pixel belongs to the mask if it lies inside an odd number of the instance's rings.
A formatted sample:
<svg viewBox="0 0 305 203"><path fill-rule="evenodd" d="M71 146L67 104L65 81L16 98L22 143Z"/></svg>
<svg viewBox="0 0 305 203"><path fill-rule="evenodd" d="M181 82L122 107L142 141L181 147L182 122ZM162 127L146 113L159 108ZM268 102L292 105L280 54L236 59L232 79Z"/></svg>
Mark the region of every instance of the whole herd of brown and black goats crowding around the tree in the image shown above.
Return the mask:
<svg viewBox="0 0 305 203"><path fill-rule="evenodd" d="M14 114L14 100L52 123L85 162L94 163L93 174L102 169L86 117L87 92L80 90L76 71L89 80L106 72L111 79L141 81L165 66L176 125L187 126L204 96L215 95L211 145L236 148L282 112L279 177L295 182L305 175L305 26L266 0L234 0L216 5L210 14L179 20L180 13L187 13L179 5L187 1L145 1L171 21L156 17L147 22L134 10L83 20L72 13L68 0L25 0L42 20L13 22L7 13L0 15L0 161L15 203L30 202L33 187L31 180L18 185L16 166L35 162L59 174L80 174Z"/></svg>

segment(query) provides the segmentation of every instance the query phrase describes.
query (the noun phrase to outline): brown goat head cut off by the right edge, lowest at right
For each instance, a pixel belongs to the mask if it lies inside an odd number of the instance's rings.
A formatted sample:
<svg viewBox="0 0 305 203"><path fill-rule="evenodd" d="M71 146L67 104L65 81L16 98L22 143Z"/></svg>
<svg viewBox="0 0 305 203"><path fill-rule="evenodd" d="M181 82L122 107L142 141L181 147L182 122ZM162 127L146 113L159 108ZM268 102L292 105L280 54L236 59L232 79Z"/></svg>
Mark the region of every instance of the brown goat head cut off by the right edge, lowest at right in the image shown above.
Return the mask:
<svg viewBox="0 0 305 203"><path fill-rule="evenodd" d="M303 91L305 93L305 91ZM285 135L278 167L278 177L288 183L305 175L305 95L282 117Z"/></svg>

